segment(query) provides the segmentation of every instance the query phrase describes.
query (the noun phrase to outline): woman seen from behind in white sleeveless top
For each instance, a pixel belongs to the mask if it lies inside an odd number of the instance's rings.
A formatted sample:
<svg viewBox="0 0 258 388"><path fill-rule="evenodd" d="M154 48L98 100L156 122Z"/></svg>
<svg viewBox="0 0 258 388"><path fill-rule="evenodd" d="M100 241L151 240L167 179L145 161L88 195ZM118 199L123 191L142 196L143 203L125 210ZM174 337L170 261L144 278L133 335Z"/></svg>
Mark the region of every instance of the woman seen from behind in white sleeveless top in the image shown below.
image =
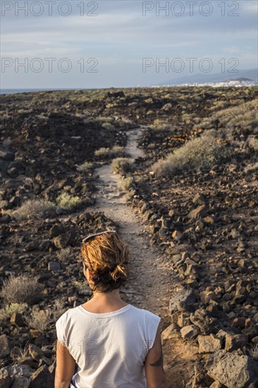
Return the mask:
<svg viewBox="0 0 258 388"><path fill-rule="evenodd" d="M116 231L103 231L85 238L81 251L93 297L56 322L55 388L166 387L161 318L119 294L128 277L128 245Z"/></svg>

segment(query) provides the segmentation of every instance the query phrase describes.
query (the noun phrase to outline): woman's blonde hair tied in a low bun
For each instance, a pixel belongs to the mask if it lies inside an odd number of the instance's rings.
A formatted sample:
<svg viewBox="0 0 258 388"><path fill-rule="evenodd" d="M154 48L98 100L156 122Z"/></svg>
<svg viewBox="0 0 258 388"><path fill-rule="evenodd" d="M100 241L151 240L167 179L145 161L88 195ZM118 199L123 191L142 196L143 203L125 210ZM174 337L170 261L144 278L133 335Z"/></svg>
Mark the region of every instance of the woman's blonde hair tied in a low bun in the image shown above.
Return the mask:
<svg viewBox="0 0 258 388"><path fill-rule="evenodd" d="M82 261L93 272L92 291L110 292L127 280L130 253L128 245L113 231L82 243Z"/></svg>

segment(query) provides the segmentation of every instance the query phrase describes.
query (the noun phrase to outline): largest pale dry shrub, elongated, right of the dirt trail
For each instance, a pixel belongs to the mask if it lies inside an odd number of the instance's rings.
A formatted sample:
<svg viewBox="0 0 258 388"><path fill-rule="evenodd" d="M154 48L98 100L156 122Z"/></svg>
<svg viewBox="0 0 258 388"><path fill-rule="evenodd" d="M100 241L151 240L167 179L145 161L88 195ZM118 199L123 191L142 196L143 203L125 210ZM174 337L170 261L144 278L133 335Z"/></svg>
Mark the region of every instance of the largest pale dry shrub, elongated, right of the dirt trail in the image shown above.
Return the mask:
<svg viewBox="0 0 258 388"><path fill-rule="evenodd" d="M166 159L154 163L152 170L156 176L173 176L185 169L209 168L223 157L223 147L210 134L190 140L168 154Z"/></svg>

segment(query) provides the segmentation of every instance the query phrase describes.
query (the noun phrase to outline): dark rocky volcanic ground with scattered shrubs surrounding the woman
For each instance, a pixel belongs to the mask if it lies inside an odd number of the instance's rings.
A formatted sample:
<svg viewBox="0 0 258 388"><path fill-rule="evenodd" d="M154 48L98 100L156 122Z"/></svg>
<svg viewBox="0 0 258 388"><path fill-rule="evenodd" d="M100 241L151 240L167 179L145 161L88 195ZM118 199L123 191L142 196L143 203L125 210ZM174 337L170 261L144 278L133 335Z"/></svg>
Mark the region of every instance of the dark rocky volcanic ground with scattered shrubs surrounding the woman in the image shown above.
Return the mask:
<svg viewBox="0 0 258 388"><path fill-rule="evenodd" d="M56 319L91 296L82 237L109 226L139 270L125 300L164 322L169 387L258 387L257 108L258 87L1 97L1 387L53 386Z"/></svg>

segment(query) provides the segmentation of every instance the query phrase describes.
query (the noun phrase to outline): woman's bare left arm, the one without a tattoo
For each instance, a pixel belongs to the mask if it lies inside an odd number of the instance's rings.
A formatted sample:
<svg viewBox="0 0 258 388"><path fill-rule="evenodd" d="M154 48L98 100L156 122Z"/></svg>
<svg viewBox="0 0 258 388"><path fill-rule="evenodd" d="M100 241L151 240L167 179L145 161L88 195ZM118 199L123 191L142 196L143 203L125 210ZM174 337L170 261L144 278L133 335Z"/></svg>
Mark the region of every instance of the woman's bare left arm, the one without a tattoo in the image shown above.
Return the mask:
<svg viewBox="0 0 258 388"><path fill-rule="evenodd" d="M75 360L70 356L68 348L57 340L55 388L69 388L74 370Z"/></svg>

